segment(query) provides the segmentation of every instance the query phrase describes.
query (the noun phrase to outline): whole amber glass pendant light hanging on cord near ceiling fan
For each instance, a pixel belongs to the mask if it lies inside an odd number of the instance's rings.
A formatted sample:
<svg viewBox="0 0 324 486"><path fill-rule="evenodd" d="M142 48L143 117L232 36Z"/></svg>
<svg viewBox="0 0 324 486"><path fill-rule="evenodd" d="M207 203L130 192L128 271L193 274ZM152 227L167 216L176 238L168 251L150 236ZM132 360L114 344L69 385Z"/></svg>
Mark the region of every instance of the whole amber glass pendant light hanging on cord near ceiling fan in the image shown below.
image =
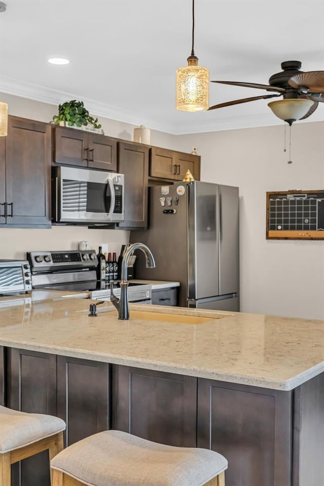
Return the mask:
<svg viewBox="0 0 324 486"><path fill-rule="evenodd" d="M181 111L204 111L209 107L209 69L198 66L194 55L194 0L192 0L192 47L188 65L177 69L176 108Z"/></svg>

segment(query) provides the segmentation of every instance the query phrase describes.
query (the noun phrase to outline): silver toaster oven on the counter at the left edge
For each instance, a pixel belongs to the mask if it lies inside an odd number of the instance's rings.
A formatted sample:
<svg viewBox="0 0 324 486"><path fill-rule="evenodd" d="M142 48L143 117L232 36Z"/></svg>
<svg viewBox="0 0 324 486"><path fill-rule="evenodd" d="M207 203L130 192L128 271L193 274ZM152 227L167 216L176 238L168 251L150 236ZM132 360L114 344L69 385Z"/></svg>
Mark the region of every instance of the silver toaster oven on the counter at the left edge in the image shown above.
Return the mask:
<svg viewBox="0 0 324 486"><path fill-rule="evenodd" d="M0 296L23 294L30 290L29 263L26 260L0 260Z"/></svg>

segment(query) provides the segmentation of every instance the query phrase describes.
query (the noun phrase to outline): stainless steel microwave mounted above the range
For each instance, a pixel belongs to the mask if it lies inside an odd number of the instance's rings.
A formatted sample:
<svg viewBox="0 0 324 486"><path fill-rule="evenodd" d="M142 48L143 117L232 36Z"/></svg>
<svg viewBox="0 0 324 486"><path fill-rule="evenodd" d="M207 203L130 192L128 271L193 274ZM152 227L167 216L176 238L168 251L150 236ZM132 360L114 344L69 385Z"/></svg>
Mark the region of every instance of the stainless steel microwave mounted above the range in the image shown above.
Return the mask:
<svg viewBox="0 0 324 486"><path fill-rule="evenodd" d="M55 167L52 185L53 222L95 224L124 221L124 174Z"/></svg>

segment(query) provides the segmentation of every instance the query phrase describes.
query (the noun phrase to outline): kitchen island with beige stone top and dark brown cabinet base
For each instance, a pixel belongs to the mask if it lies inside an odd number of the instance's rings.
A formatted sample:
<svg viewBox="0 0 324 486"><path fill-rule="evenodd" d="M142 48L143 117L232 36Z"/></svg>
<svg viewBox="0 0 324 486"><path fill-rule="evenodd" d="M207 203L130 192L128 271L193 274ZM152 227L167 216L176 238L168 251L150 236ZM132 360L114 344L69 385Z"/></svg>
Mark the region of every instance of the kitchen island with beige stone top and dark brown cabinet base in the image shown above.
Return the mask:
<svg viewBox="0 0 324 486"><path fill-rule="evenodd" d="M212 448L227 486L324 484L323 321L90 302L0 309L7 406L60 416L66 443L111 427ZM48 481L42 454L22 486Z"/></svg>

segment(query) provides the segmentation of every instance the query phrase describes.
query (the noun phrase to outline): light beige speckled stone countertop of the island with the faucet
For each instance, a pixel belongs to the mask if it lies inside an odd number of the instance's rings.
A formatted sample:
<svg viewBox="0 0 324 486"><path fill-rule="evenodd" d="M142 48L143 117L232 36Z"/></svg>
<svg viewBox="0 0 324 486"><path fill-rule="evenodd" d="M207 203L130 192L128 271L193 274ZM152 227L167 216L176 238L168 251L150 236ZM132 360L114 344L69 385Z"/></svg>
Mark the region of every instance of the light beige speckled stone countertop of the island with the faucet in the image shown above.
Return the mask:
<svg viewBox="0 0 324 486"><path fill-rule="evenodd" d="M324 372L322 320L131 304L131 320L119 321L110 304L89 317L91 302L2 307L0 345L277 390ZM210 320L132 319L135 309Z"/></svg>

